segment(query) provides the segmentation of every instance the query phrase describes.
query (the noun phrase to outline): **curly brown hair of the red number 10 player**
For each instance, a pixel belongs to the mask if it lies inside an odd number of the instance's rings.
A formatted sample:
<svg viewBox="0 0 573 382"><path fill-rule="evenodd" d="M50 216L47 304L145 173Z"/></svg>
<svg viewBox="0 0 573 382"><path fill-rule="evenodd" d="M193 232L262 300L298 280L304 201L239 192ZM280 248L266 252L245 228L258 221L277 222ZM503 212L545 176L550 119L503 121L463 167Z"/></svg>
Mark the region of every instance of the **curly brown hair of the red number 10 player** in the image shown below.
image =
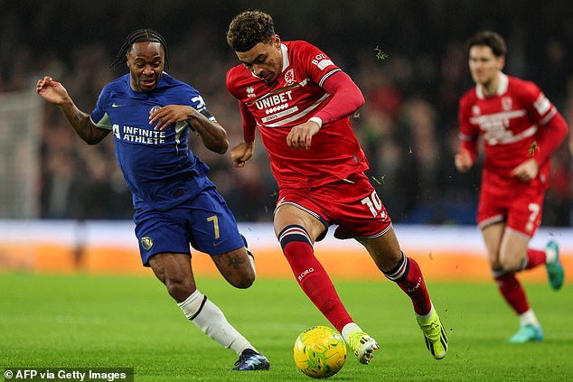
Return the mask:
<svg viewBox="0 0 573 382"><path fill-rule="evenodd" d="M227 43L233 51L249 51L258 42L271 42L275 36L273 18L261 11L244 11L229 24Z"/></svg>

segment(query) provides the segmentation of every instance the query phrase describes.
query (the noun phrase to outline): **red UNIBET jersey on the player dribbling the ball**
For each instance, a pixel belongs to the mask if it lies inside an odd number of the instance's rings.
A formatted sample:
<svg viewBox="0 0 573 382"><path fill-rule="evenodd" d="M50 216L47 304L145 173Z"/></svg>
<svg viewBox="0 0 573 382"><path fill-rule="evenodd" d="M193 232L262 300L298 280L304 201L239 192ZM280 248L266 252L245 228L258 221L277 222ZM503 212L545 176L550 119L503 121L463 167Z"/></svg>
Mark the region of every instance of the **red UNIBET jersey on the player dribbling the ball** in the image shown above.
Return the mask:
<svg viewBox="0 0 573 382"><path fill-rule="evenodd" d="M227 89L252 115L243 117L245 140L253 141L255 124L270 157L279 188L312 188L368 169L368 161L345 117L324 124L310 149L293 149L286 135L330 100L322 85L341 69L323 51L304 41L282 42L283 70L272 84L242 64L227 72Z"/></svg>

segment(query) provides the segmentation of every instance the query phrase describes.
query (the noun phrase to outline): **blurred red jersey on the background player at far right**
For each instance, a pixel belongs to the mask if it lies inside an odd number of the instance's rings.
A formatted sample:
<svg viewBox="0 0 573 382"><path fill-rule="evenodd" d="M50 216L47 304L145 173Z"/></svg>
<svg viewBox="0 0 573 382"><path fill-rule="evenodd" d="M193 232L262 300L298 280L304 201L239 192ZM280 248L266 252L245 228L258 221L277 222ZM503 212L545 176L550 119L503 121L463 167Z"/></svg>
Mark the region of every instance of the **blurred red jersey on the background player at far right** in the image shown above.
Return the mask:
<svg viewBox="0 0 573 382"><path fill-rule="evenodd" d="M547 188L549 157L540 163L540 172L530 183L513 178L511 172L535 155L543 126L556 114L557 109L534 83L503 73L497 94L485 96L481 85L465 93L459 104L460 138L472 141L478 135L484 137L482 187L498 191Z"/></svg>

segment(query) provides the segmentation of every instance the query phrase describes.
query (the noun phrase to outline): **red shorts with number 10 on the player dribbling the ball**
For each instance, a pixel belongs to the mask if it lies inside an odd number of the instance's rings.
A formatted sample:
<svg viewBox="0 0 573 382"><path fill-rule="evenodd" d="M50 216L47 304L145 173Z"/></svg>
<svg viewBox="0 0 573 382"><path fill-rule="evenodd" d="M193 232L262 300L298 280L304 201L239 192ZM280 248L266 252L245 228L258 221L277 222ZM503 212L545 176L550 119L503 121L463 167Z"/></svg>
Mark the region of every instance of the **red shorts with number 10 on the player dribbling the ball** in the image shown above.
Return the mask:
<svg viewBox="0 0 573 382"><path fill-rule="evenodd" d="M335 238L378 238L392 226L386 208L363 173L313 189L280 190L277 208L284 204L305 210L325 228L338 225Z"/></svg>

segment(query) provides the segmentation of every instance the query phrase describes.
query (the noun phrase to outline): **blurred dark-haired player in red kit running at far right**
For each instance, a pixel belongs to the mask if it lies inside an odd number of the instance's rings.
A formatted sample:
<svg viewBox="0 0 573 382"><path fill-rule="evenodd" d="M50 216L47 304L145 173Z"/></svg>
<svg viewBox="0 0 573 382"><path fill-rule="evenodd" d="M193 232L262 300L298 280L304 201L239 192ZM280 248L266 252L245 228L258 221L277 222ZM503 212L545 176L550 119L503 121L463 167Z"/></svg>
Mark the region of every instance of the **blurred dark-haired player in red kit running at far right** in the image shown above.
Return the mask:
<svg viewBox="0 0 573 382"><path fill-rule="evenodd" d="M456 168L467 172L474 165L478 137L483 137L477 224L495 282L520 319L520 329L509 341L539 341L540 322L516 274L545 265L551 288L559 290L563 284L557 243L550 241L539 250L530 248L529 242L540 227L550 155L568 134L568 126L535 84L503 74L506 45L499 34L477 33L467 49L476 85L459 103Z"/></svg>

